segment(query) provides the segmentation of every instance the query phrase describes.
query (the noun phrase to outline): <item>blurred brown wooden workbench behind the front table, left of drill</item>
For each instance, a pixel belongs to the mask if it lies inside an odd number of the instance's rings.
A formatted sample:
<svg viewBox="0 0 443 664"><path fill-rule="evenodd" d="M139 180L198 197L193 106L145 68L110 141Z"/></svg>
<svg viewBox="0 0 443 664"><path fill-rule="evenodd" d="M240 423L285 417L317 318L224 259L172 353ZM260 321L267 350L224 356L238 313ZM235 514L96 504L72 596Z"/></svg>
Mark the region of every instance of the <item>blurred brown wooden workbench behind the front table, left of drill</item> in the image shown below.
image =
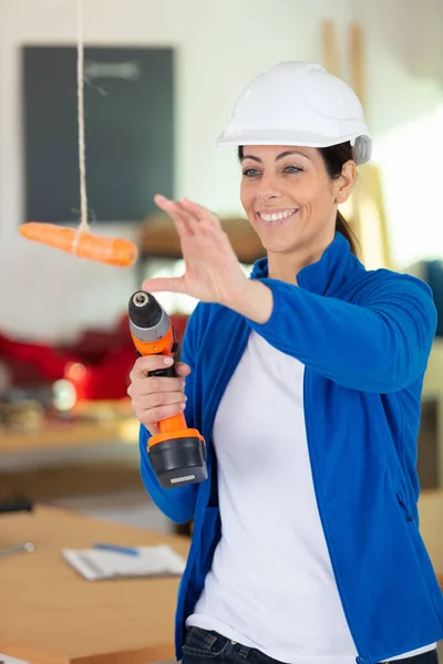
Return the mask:
<svg viewBox="0 0 443 664"><path fill-rule="evenodd" d="M29 433L0 430L0 500L20 495L47 501L140 486L137 463L122 464L113 454L97 454L100 463L90 460L94 449L105 453L115 446L132 448L127 453L122 449L121 455L132 458L136 455L138 428L135 417L122 415L95 421L45 421Z"/></svg>

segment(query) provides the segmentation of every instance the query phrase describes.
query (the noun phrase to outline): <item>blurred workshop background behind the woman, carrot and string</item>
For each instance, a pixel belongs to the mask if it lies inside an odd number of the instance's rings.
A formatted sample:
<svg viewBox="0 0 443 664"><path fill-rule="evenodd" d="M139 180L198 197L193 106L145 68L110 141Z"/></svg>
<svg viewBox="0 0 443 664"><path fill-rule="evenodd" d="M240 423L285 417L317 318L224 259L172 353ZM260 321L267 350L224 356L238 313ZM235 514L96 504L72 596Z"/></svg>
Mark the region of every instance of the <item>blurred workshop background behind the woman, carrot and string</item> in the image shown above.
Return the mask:
<svg viewBox="0 0 443 664"><path fill-rule="evenodd" d="M419 471L443 484L443 4L441 0L85 0L89 207L134 268L76 259L19 235L79 221L76 2L0 0L0 502L35 500L171 529L138 476L126 396L127 301L181 273L155 193L217 212L245 270L234 149L215 142L255 75L309 60L354 87L374 138L343 214L368 268L420 276L441 323L425 380ZM178 336L195 302L164 295Z"/></svg>

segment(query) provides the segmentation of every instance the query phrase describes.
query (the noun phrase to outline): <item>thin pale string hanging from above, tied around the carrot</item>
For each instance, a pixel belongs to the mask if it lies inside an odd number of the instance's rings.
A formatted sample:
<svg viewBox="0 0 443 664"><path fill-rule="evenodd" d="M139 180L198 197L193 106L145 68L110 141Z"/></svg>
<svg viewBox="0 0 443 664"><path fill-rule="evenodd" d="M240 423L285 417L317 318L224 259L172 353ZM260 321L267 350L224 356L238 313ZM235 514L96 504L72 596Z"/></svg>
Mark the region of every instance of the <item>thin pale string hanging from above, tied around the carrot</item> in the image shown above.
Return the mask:
<svg viewBox="0 0 443 664"><path fill-rule="evenodd" d="M74 240L76 253L81 232L89 231L86 191L86 149L84 139L84 43L83 43L83 0L78 0L78 45L76 45L76 97L79 124L79 170L80 170L80 226Z"/></svg>

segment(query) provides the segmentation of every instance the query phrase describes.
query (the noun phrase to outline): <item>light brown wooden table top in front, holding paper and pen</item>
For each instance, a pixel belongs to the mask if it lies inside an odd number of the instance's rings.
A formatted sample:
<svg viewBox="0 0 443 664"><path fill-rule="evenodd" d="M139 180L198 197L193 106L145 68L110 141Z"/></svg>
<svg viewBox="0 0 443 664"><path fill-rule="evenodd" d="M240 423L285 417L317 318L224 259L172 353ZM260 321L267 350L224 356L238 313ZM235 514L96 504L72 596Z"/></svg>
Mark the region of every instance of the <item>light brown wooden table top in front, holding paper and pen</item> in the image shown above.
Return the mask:
<svg viewBox="0 0 443 664"><path fill-rule="evenodd" d="M89 582L63 548L96 541L168 543L188 539L85 518L58 508L0 516L0 549L32 541L33 553L0 559L0 653L38 664L142 664L174 657L178 578Z"/></svg>

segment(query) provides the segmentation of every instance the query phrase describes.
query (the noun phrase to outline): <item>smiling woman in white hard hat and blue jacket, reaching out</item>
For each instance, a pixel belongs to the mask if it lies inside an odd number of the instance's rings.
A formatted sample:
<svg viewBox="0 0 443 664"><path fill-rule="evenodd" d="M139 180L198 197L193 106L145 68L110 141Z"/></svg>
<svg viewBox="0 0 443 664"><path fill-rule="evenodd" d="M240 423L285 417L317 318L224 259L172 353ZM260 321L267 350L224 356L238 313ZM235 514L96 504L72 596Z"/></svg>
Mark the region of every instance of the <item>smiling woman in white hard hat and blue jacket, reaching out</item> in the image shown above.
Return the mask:
<svg viewBox="0 0 443 664"><path fill-rule="evenodd" d="M200 300L178 378L130 394L142 477L176 522L195 519L176 616L185 663L437 661L443 602L418 528L416 435L435 309L421 281L367 271L338 212L370 158L357 96L320 66L282 63L239 97L241 203L267 259L244 272L217 217L156 197L186 272L146 291ZM185 407L209 479L162 489L146 454Z"/></svg>

